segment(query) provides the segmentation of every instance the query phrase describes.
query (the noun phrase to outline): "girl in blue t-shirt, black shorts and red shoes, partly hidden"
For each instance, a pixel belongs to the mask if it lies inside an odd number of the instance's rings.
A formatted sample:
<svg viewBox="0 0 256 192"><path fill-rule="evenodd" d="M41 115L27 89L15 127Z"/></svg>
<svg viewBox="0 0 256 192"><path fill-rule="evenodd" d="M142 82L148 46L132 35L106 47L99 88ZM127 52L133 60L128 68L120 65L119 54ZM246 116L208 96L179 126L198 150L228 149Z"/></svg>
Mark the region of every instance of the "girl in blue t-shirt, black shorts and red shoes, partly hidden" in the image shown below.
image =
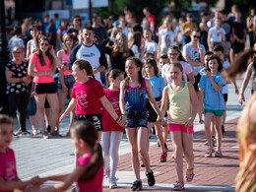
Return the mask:
<svg viewBox="0 0 256 192"><path fill-rule="evenodd" d="M146 74L146 79L150 80L151 82L153 96L155 97L155 100L158 101L158 104L160 105L161 93L163 91L163 88L165 87L165 83L163 78L159 77L159 68L158 68L157 61L155 59L148 59L146 61L145 74ZM152 124L154 123L155 129L157 131L157 137L160 141L160 148L161 148L160 162L165 162L167 159L167 153L164 149L164 140L162 138L162 130L160 127L160 123L157 122L158 114L152 107L148 96L146 96L146 98L147 98L146 105L149 112L149 116L148 116L149 134L152 128Z"/></svg>

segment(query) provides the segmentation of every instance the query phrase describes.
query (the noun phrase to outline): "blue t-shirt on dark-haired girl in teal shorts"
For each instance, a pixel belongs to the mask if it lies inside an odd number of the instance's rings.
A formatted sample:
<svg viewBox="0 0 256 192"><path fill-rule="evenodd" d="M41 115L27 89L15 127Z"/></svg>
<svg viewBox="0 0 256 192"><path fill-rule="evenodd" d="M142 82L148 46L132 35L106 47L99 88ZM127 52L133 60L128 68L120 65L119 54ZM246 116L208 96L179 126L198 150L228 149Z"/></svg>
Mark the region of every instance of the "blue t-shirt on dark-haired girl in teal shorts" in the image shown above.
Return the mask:
<svg viewBox="0 0 256 192"><path fill-rule="evenodd" d="M218 72L213 79L217 85L225 85L225 80L222 77L222 73ZM210 79L203 75L199 88L205 91L205 109L210 110L224 110L224 95L223 89L220 92L216 92Z"/></svg>

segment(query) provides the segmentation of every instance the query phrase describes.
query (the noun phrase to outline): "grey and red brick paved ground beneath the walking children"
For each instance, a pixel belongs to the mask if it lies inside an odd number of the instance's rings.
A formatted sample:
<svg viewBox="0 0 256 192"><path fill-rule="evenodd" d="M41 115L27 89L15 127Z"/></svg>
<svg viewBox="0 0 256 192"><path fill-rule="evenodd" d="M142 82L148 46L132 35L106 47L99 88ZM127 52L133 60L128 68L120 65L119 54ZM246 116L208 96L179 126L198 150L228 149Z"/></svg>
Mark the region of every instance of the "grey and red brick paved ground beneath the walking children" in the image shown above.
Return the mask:
<svg viewBox="0 0 256 192"><path fill-rule="evenodd" d="M241 80L237 81L240 87ZM227 118L225 124L224 141L223 141L223 159L204 158L207 149L204 146L206 141L204 134L204 125L198 124L195 120L194 135L194 155L195 155L195 179L190 184L185 184L187 191L233 191L234 178L238 171L238 149L236 146L236 122L240 115L242 106L237 102L237 96L234 94L232 86L229 87L227 101ZM246 100L249 97L247 89ZM28 121L29 124L29 121ZM66 118L61 123L61 134L68 131L69 119ZM30 127L30 124L28 125ZM15 124L15 130L19 126ZM30 129L30 128L29 128ZM170 191L176 180L174 162L170 156L172 146L170 139L167 141L168 152L167 162L159 162L160 149L157 147L157 140L151 141L150 157L152 169L155 171L157 183L154 187L147 186L144 169L141 169L144 188L147 191ZM74 149L71 145L70 138L43 140L40 136L32 138L16 138L11 147L15 150L19 176L22 179L31 178L33 175L47 176L63 172L70 172L74 168ZM120 188L113 191L129 191L134 174L131 167L130 148L126 136L123 135L119 149L119 165L117 171L118 186ZM185 165L185 164L184 164ZM185 170L184 170L185 171ZM48 182L45 185L51 185ZM104 180L104 191L108 191L107 180Z"/></svg>

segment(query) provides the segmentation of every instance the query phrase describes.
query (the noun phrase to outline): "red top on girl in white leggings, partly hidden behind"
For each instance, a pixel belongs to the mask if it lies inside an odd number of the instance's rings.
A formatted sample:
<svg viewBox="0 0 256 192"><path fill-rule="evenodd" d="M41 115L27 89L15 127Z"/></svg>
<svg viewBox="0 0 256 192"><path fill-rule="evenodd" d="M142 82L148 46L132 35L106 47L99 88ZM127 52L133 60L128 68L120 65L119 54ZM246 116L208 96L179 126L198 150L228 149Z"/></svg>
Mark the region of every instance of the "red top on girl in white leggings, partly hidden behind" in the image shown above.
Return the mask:
<svg viewBox="0 0 256 192"><path fill-rule="evenodd" d="M120 91L113 92L109 89L104 90L106 98L112 104L116 114L121 116L121 110L119 108L119 94ZM121 127L117 124L117 122L113 119L113 117L105 110L103 107L102 113L102 124L103 124L103 132L104 131L124 131L124 127Z"/></svg>

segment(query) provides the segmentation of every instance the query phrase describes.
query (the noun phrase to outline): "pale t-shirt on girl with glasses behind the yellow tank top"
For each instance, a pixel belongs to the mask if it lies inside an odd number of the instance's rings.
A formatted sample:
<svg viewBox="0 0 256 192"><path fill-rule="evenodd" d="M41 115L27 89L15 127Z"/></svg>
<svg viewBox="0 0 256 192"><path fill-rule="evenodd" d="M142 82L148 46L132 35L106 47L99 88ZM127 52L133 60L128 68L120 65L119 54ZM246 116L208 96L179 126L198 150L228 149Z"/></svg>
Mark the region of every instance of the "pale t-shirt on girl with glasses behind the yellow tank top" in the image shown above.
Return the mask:
<svg viewBox="0 0 256 192"><path fill-rule="evenodd" d="M189 65L189 63L184 62L184 61L179 61L179 63L182 65L183 67L183 77L185 79L185 81L187 81L187 75L192 73L192 68ZM165 64L163 65L162 69L161 69L161 77L165 78L167 80L167 84L171 84L171 79L170 79L170 75L169 75L169 64Z"/></svg>

